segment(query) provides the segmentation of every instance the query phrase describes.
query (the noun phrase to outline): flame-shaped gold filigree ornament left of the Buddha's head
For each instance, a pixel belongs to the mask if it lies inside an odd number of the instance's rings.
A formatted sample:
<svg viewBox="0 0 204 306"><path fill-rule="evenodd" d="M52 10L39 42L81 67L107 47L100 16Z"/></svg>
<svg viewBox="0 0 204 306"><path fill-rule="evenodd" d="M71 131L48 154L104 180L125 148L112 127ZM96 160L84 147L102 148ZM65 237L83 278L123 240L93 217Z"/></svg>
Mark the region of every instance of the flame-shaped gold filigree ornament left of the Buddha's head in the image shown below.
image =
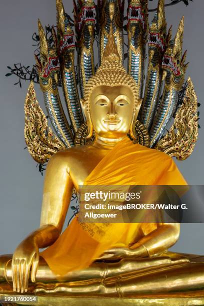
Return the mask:
<svg viewBox="0 0 204 306"><path fill-rule="evenodd" d="M37 102L32 81L25 97L24 112L24 137L27 149L35 161L44 163L65 146L48 127L46 116Z"/></svg>

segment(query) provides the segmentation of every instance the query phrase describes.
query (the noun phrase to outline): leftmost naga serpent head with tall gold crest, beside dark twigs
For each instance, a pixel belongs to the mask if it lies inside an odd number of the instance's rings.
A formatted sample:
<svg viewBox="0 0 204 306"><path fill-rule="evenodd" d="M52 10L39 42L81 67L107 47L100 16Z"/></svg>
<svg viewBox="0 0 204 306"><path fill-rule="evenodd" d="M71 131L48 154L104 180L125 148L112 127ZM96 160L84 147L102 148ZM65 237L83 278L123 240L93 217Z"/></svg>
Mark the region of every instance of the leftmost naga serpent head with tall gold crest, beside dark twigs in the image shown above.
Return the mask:
<svg viewBox="0 0 204 306"><path fill-rule="evenodd" d="M43 27L38 20L38 32L40 39L40 57L35 55L36 66L39 74L40 85L46 85L54 77L57 82L59 71L59 59L56 53L56 45L48 47Z"/></svg>

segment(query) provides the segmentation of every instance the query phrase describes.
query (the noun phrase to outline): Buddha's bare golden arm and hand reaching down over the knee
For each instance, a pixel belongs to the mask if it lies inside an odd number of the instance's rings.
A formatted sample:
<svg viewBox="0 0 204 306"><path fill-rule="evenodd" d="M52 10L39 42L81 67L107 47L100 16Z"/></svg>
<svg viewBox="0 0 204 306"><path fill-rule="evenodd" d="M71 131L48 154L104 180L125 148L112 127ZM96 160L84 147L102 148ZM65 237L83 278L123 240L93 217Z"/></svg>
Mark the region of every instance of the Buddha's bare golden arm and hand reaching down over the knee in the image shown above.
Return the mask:
<svg viewBox="0 0 204 306"><path fill-rule="evenodd" d="M39 259L39 248L51 245L59 236L69 201L73 183L69 176L65 151L53 155L46 168L40 227L31 232L15 249L12 257L13 290L26 291L31 270L31 280Z"/></svg>

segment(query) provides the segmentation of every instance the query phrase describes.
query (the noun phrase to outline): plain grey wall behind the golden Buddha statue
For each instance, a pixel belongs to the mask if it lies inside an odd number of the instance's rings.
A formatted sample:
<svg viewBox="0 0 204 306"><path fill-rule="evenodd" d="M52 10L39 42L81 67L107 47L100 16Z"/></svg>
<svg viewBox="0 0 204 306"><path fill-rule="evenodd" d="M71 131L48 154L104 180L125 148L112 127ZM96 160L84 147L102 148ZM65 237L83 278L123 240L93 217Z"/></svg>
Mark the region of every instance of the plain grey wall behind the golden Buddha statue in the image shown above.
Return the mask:
<svg viewBox="0 0 204 306"><path fill-rule="evenodd" d="M37 18L43 24L55 24L54 0L0 1L0 254L11 253L17 244L39 226L43 177L25 147L23 102L28 87L13 86L15 77L4 77L7 65L34 63L31 35L37 30ZM64 0L66 11L72 11L72 1ZM155 0L149 7L155 7ZM166 0L166 3L169 2ZM183 3L166 8L168 26L175 34L179 20L185 16L183 50L187 49L190 75L201 103L198 142L192 155L177 162L189 184L203 184L203 11L204 1L194 0L187 7ZM149 14L149 20L152 13ZM39 86L35 86L43 105ZM193 203L192 203L193 204ZM204 254L204 224L181 224L179 241L173 250Z"/></svg>

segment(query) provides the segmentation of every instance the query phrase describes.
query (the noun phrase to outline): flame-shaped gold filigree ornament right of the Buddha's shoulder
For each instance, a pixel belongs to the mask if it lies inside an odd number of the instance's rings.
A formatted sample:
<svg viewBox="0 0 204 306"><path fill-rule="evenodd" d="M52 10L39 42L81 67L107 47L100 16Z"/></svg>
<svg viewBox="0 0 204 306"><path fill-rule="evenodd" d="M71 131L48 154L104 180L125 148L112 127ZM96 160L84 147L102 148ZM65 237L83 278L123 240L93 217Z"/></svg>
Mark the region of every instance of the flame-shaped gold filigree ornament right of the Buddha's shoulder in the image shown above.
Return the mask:
<svg viewBox="0 0 204 306"><path fill-rule="evenodd" d="M197 97L190 77L187 83L185 97L173 125L155 146L178 160L184 160L192 153L198 136Z"/></svg>

